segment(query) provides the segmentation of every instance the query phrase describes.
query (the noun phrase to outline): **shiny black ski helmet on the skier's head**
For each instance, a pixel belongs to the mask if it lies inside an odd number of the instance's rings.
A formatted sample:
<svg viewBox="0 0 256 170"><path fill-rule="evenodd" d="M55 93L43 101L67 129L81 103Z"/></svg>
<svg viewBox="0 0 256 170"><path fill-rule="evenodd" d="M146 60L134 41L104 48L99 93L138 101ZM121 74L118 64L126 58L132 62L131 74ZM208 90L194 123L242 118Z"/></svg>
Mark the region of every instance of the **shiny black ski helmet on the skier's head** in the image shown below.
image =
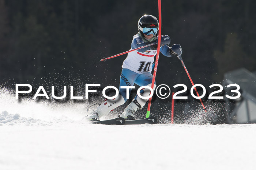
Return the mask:
<svg viewBox="0 0 256 170"><path fill-rule="evenodd" d="M143 15L138 21L138 30L141 35L143 35L143 28L157 28L159 24L156 17L153 15Z"/></svg>

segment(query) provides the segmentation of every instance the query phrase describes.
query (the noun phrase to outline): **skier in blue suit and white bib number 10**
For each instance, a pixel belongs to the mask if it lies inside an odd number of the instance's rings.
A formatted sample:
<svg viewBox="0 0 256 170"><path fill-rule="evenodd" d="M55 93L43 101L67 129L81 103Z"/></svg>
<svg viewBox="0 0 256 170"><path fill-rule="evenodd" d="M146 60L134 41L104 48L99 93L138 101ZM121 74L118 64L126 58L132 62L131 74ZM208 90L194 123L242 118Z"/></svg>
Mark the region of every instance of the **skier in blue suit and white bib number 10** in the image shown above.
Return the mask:
<svg viewBox="0 0 256 170"><path fill-rule="evenodd" d="M133 36L131 49L145 46L151 44L155 41L158 41L157 32L158 32L158 20L152 15L144 15L138 21L138 30L139 32ZM171 48L166 44L170 43L169 36L161 37L161 48L160 52L167 56L177 56L181 54L181 46L179 44L174 44ZM97 109L89 116L87 120L98 121L104 115L107 115L114 108L124 104L127 100L125 88L120 88L121 86L133 86L134 83L139 86L149 86L151 87L153 76L151 74L152 64L154 62L154 56L157 54L157 44L153 46L148 46L140 50L135 50L128 53L127 58L123 62L123 70L120 76L120 86L119 94L115 99L108 99L103 102ZM156 84L154 84L155 90ZM129 95L131 94L131 89L129 89ZM140 90L140 95L147 97L150 95L150 90L144 88ZM132 100L132 102L125 108L124 112L119 115L120 117L125 118L126 120L134 120L134 113L137 110L142 109L146 104L148 99L142 99L138 95Z"/></svg>

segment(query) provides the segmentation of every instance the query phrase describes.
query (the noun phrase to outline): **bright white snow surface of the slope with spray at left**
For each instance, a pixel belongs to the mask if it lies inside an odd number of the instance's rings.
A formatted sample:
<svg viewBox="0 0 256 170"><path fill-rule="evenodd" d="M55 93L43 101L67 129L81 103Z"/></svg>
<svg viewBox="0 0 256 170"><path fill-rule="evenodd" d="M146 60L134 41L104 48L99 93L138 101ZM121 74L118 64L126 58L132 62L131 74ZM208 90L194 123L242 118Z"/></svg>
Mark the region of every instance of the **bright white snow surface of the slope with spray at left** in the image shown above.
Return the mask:
<svg viewBox="0 0 256 170"><path fill-rule="evenodd" d="M0 170L255 169L256 124L101 125L0 90Z"/></svg>

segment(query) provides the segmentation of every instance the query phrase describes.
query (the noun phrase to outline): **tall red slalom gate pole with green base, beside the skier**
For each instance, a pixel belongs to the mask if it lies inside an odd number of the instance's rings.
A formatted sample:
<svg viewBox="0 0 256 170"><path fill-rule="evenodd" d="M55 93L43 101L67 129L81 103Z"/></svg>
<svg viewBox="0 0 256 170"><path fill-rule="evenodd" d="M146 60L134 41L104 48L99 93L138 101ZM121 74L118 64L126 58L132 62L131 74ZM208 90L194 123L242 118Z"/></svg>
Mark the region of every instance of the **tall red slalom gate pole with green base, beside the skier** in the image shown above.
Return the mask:
<svg viewBox="0 0 256 170"><path fill-rule="evenodd" d="M160 52L160 45L161 45L161 25L162 25L162 13L161 13L161 0L158 0L158 19L159 19L159 30L158 30L158 44L157 44L157 58L155 59L155 68L154 68L154 74L152 79L151 88L154 89L155 84L155 76L157 74L157 65L158 65L158 59L159 59L159 52ZM152 97L148 100L148 106L147 106L147 115L146 118L150 116L150 106L151 106L151 100Z"/></svg>

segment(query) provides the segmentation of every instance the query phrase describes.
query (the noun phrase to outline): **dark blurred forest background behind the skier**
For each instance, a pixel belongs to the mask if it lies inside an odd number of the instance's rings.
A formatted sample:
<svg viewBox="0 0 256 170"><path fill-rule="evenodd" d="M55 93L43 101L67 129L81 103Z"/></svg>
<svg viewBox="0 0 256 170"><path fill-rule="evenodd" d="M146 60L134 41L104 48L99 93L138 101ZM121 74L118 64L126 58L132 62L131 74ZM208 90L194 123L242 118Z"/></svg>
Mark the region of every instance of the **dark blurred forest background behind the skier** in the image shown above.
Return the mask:
<svg viewBox="0 0 256 170"><path fill-rule="evenodd" d="M162 0L162 34L181 44L194 81L221 83L227 71L256 70L256 1ZM158 18L157 0L0 0L0 83L119 86L137 23ZM160 55L157 84L191 86L176 57ZM38 88L38 87L37 87Z"/></svg>

